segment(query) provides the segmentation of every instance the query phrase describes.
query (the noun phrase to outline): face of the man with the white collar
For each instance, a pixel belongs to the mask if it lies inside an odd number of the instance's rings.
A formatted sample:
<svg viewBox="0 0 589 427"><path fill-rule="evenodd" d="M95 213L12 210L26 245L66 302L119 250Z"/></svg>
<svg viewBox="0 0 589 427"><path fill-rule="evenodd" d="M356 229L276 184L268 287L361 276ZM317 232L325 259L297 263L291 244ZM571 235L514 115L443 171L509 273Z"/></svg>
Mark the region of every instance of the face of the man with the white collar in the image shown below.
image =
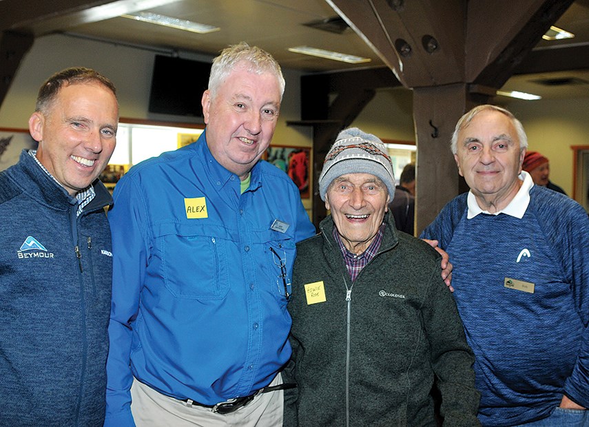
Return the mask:
<svg viewBox="0 0 589 427"><path fill-rule="evenodd" d="M459 174L479 206L490 213L504 209L521 187L517 176L526 154L510 118L494 110L479 112L458 133L456 147Z"/></svg>

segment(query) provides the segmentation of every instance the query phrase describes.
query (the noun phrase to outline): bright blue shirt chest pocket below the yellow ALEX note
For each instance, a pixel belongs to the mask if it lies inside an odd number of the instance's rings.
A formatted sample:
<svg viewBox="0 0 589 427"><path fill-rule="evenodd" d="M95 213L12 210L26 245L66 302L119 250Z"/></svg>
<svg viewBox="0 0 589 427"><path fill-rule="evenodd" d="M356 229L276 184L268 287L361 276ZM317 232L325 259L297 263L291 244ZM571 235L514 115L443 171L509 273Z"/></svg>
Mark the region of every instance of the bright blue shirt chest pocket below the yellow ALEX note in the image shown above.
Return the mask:
<svg viewBox="0 0 589 427"><path fill-rule="evenodd" d="M188 229L158 238L165 287L174 297L222 300L227 295L228 242L211 234Z"/></svg>

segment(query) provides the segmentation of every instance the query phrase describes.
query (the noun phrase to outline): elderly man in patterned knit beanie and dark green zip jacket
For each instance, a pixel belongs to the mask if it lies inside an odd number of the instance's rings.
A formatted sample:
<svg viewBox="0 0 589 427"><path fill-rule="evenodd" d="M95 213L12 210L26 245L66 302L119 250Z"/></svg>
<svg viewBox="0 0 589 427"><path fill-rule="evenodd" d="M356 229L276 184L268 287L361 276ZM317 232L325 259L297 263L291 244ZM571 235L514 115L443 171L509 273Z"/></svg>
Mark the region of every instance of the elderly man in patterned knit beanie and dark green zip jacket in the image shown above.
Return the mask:
<svg viewBox="0 0 589 427"><path fill-rule="evenodd" d="M449 426L477 426L471 348L440 255L397 233L395 192L380 139L338 135L319 178L331 215L297 245L293 359L285 426L435 426L434 384Z"/></svg>

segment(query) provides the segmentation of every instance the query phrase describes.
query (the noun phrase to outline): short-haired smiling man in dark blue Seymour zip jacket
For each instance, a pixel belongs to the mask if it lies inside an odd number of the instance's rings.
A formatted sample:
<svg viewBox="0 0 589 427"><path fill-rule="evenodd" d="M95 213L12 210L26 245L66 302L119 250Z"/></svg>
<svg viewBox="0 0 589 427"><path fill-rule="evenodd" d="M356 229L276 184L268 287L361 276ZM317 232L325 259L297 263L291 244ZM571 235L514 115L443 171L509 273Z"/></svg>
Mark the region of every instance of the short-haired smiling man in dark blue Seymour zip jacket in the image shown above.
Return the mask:
<svg viewBox="0 0 589 427"><path fill-rule="evenodd" d="M114 150L114 85L54 74L29 119L37 150L0 174L0 426L102 426L112 248L97 179Z"/></svg>

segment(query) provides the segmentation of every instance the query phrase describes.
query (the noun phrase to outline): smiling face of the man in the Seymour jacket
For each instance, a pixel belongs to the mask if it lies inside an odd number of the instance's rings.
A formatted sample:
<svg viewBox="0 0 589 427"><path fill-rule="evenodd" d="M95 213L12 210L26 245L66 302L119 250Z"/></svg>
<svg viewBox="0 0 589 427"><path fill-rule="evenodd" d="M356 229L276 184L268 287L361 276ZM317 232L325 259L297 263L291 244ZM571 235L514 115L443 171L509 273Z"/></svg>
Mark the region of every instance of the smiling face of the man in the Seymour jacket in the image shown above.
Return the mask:
<svg viewBox="0 0 589 427"><path fill-rule="evenodd" d="M41 165L75 196L98 178L114 151L118 104L99 83L65 84L43 112L34 112L29 131L39 141Z"/></svg>

